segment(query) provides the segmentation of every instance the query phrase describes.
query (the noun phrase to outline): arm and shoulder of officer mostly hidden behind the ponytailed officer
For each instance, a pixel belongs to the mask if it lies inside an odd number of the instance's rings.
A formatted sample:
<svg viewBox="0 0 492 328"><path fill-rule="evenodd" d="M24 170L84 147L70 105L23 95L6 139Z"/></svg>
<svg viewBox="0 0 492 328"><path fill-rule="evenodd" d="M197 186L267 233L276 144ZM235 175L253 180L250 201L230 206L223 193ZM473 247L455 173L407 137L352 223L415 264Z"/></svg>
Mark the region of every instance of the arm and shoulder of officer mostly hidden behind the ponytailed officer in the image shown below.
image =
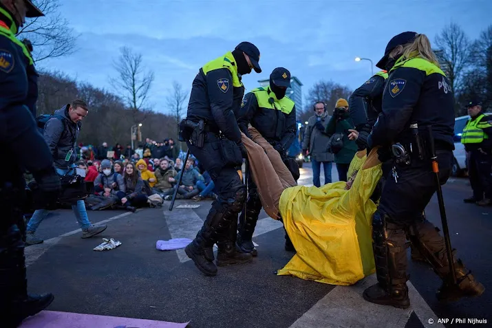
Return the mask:
<svg viewBox="0 0 492 328"><path fill-rule="evenodd" d="M356 139L359 150L367 148L367 136L381 113L383 90L387 78L388 74L384 69L377 72L357 88L348 100L350 118L354 122L356 131L359 132Z"/></svg>

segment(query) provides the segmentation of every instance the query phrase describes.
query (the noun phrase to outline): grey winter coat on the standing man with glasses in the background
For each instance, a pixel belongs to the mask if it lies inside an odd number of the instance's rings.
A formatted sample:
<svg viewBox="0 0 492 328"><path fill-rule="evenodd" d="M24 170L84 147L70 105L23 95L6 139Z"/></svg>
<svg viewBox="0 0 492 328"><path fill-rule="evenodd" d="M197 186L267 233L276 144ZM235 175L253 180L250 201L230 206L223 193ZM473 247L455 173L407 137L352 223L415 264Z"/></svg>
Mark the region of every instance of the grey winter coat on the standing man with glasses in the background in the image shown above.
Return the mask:
<svg viewBox="0 0 492 328"><path fill-rule="evenodd" d="M325 128L330 121L331 116L326 112L323 113L319 122ZM318 116L311 116L308 120L308 126L304 131L302 149L308 149L311 160L317 162L333 162L334 156L328 151L330 137L316 127Z"/></svg>

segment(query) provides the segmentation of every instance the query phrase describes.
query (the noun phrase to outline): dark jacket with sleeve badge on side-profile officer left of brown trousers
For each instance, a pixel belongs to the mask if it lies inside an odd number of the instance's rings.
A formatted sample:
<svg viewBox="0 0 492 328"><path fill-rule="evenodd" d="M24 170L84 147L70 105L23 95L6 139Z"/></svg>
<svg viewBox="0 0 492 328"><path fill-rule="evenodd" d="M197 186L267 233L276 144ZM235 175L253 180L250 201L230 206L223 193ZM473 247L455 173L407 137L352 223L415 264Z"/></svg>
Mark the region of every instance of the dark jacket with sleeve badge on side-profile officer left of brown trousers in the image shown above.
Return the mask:
<svg viewBox="0 0 492 328"><path fill-rule="evenodd" d="M235 65L234 61L231 63ZM222 83L224 81L226 83ZM228 140L239 143L241 131L234 111L241 106L243 96L244 87L233 86L233 76L226 67L213 69L206 74L200 68L193 80L187 118L195 122L205 120L209 129L220 130Z"/></svg>

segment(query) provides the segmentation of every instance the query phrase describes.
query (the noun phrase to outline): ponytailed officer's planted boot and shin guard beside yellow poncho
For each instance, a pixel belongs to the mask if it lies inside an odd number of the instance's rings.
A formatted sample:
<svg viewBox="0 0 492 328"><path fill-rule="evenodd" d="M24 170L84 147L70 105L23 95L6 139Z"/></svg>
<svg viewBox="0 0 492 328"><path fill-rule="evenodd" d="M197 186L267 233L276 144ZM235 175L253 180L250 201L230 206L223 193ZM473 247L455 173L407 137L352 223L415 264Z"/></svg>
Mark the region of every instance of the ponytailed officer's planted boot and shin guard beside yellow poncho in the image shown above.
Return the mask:
<svg viewBox="0 0 492 328"><path fill-rule="evenodd" d="M363 298L371 303L406 309L410 306L410 300L405 273L405 231L403 226L389 223L388 219L383 213L374 213L372 246L378 283L365 289Z"/></svg>

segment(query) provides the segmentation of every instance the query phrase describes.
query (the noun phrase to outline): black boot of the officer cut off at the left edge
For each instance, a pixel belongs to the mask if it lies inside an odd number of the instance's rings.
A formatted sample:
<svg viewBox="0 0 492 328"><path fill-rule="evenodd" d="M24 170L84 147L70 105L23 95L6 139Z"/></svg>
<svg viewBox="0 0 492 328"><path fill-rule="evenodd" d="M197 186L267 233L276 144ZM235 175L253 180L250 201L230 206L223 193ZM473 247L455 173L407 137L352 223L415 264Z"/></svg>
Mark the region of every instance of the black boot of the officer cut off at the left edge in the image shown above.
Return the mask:
<svg viewBox="0 0 492 328"><path fill-rule="evenodd" d="M27 293L24 243L17 226L0 232L0 318L6 327L17 327L54 300L52 294Z"/></svg>

